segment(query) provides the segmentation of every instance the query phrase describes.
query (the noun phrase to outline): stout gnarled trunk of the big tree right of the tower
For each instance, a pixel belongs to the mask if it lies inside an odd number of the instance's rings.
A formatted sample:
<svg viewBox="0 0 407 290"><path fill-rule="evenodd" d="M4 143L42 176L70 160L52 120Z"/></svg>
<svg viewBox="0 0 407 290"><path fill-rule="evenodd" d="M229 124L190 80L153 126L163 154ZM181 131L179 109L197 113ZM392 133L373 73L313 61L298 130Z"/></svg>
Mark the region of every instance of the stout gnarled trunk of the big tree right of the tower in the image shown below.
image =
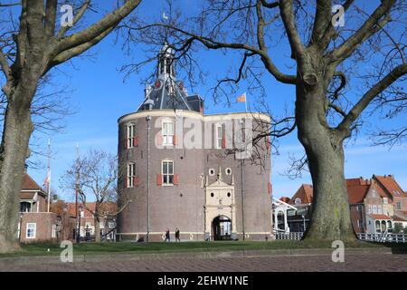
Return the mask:
<svg viewBox="0 0 407 290"><path fill-rule="evenodd" d="M304 146L313 183L311 224L307 240L351 241L355 234L350 219L344 174L343 133L329 128L324 83L297 87L298 140Z"/></svg>

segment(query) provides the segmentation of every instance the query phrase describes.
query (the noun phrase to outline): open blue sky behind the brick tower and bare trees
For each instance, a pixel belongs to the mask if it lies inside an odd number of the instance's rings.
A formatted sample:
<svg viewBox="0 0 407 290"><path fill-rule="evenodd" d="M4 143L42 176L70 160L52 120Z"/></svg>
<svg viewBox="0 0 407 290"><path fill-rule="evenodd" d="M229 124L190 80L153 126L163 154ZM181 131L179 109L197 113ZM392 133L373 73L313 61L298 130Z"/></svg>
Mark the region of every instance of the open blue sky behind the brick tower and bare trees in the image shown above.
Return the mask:
<svg viewBox="0 0 407 290"><path fill-rule="evenodd" d="M162 9L156 8L158 1L148 2L140 6L141 13L161 14ZM185 5L194 4L184 1ZM154 8L154 9L153 9ZM282 44L284 47L284 44ZM79 58L72 65L64 65L63 73L58 73L57 81L61 86L67 86L70 93L71 107L77 113L67 116L67 126L63 133L46 136L37 134L38 141L46 148L48 138L52 140L52 188L57 189L62 198L71 198L70 192L64 192L59 188L59 181L75 158L75 146L80 145L80 152L86 152L90 148L117 152L118 148L118 125L117 120L123 114L135 111L144 97L144 86L139 80L151 73L152 66L147 66L140 74L133 74L124 82L124 74L118 69L123 64L134 63L145 57L141 46L133 49L130 55L121 50L119 44L114 44L114 37L107 39L91 50L92 58ZM287 46L285 47L287 48ZM279 53L276 50L275 62L279 67L286 70L290 64L289 53ZM284 51L282 51L284 52ZM205 112L244 111L243 103L232 104L231 107L223 103L213 104L208 89L215 83L216 77L221 76L233 63L235 55L232 53L224 56L216 52L203 52L197 55L208 72L206 83L198 86L195 92L200 93L205 99ZM238 64L235 64L235 66ZM267 100L270 110L282 113L284 106L292 107L295 99L294 87L276 82L270 75L262 79L267 89ZM244 92L244 86L241 92ZM191 92L191 90L189 90ZM232 96L232 99L234 96ZM254 104L256 96L248 94L248 101ZM380 125L380 120L369 119L370 126ZM395 124L403 124L407 121L407 115L400 116ZM291 197L301 183L310 183L308 172L304 172L301 179L289 179L284 176L289 166L289 155L301 156L303 149L297 140L296 133L279 140L280 155L272 157L272 183L276 197ZM392 150L387 147L372 147L362 131L356 141L350 142L345 148L345 176L346 178L364 177L370 178L373 174L394 174L402 188L407 190L407 144L394 146ZM43 162L43 169L29 169L29 173L38 183L42 184L46 175L46 159L39 157Z"/></svg>

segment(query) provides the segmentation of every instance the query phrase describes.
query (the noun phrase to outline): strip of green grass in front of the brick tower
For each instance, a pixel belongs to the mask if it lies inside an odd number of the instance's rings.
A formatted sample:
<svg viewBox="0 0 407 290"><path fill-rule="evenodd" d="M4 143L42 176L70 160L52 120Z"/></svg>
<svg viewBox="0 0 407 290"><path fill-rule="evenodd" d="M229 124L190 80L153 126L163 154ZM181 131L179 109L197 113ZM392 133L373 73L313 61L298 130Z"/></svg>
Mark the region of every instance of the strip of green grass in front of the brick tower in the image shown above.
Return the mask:
<svg viewBox="0 0 407 290"><path fill-rule="evenodd" d="M392 247L395 245L392 245ZM345 247L389 247L389 245L367 242L345 244ZM407 245L397 245L405 249ZM0 254L6 256L57 256L62 248L57 244L33 244L22 246L21 252ZM103 254L147 254L147 253L182 253L182 252L227 252L234 250L273 250L288 248L331 248L329 242L308 242L293 240L256 241L220 241L220 242L182 242L182 243L81 243L73 245L74 255ZM49 250L49 251L48 251Z"/></svg>

